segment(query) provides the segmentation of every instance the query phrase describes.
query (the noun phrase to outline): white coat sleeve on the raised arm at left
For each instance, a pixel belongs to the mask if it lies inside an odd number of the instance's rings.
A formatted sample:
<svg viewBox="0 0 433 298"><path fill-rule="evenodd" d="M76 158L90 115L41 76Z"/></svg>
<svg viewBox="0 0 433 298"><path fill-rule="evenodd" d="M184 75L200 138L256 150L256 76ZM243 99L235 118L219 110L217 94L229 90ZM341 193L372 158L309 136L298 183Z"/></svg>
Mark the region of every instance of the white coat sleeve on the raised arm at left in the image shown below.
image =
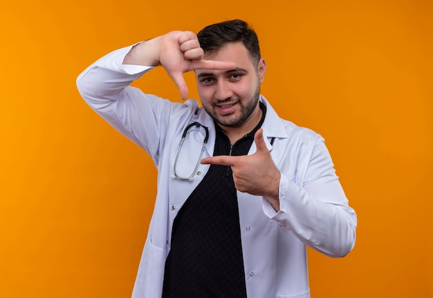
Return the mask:
<svg viewBox="0 0 433 298"><path fill-rule="evenodd" d="M176 117L174 110L181 104L130 86L153 68L122 64L131 47L115 50L91 64L77 77L77 88L96 113L145 149L158 165L169 119Z"/></svg>

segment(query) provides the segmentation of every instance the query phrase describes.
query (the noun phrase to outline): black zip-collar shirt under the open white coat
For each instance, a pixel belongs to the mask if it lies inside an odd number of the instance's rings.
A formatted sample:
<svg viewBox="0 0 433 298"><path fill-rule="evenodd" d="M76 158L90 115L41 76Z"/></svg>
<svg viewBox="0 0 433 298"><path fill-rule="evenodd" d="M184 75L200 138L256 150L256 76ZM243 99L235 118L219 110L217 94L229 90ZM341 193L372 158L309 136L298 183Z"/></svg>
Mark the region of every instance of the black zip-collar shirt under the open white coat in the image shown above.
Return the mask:
<svg viewBox="0 0 433 298"><path fill-rule="evenodd" d="M215 123L214 156L246 155L257 127L234 145ZM172 247L165 262L163 298L246 297L237 193L231 167L208 173L174 218Z"/></svg>

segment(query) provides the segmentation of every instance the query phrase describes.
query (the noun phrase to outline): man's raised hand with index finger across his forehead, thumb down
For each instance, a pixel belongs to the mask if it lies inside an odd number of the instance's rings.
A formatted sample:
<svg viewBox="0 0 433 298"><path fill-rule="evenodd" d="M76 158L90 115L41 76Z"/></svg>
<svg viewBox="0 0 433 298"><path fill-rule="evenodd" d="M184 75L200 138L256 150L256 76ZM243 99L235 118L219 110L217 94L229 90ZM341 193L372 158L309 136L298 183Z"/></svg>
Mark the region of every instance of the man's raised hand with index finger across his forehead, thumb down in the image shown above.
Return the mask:
<svg viewBox="0 0 433 298"><path fill-rule="evenodd" d="M199 39L191 31L172 31L134 46L123 64L162 65L179 89L183 100L187 99L188 87L183 73L197 69L228 70L233 63L203 59L204 52Z"/></svg>

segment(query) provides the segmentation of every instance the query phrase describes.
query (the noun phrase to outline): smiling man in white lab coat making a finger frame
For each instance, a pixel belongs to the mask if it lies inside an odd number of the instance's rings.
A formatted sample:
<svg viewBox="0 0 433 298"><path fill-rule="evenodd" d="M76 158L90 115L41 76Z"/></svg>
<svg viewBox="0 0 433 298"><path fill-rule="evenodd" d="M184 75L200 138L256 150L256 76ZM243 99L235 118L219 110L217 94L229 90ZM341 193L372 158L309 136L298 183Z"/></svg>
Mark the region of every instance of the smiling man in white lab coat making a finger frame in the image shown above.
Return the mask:
<svg viewBox="0 0 433 298"><path fill-rule="evenodd" d="M158 65L183 99L194 71L203 107L129 86ZM133 297L310 297L306 245L353 248L356 213L324 140L278 117L260 95L265 73L254 30L233 20L116 50L78 77L158 168Z"/></svg>

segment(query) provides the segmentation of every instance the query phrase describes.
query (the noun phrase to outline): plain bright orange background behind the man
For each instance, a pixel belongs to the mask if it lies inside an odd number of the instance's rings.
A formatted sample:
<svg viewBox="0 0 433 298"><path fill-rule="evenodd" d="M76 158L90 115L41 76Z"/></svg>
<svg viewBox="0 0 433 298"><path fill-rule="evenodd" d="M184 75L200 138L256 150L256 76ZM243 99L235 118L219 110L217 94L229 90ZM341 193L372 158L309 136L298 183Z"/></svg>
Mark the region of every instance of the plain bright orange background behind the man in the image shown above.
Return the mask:
<svg viewBox="0 0 433 298"><path fill-rule="evenodd" d="M234 18L259 34L262 93L324 136L358 212L351 254L309 250L312 297L433 297L427 0L2 0L0 297L129 297L156 170L75 79L116 48ZM135 84L178 100L161 69Z"/></svg>

